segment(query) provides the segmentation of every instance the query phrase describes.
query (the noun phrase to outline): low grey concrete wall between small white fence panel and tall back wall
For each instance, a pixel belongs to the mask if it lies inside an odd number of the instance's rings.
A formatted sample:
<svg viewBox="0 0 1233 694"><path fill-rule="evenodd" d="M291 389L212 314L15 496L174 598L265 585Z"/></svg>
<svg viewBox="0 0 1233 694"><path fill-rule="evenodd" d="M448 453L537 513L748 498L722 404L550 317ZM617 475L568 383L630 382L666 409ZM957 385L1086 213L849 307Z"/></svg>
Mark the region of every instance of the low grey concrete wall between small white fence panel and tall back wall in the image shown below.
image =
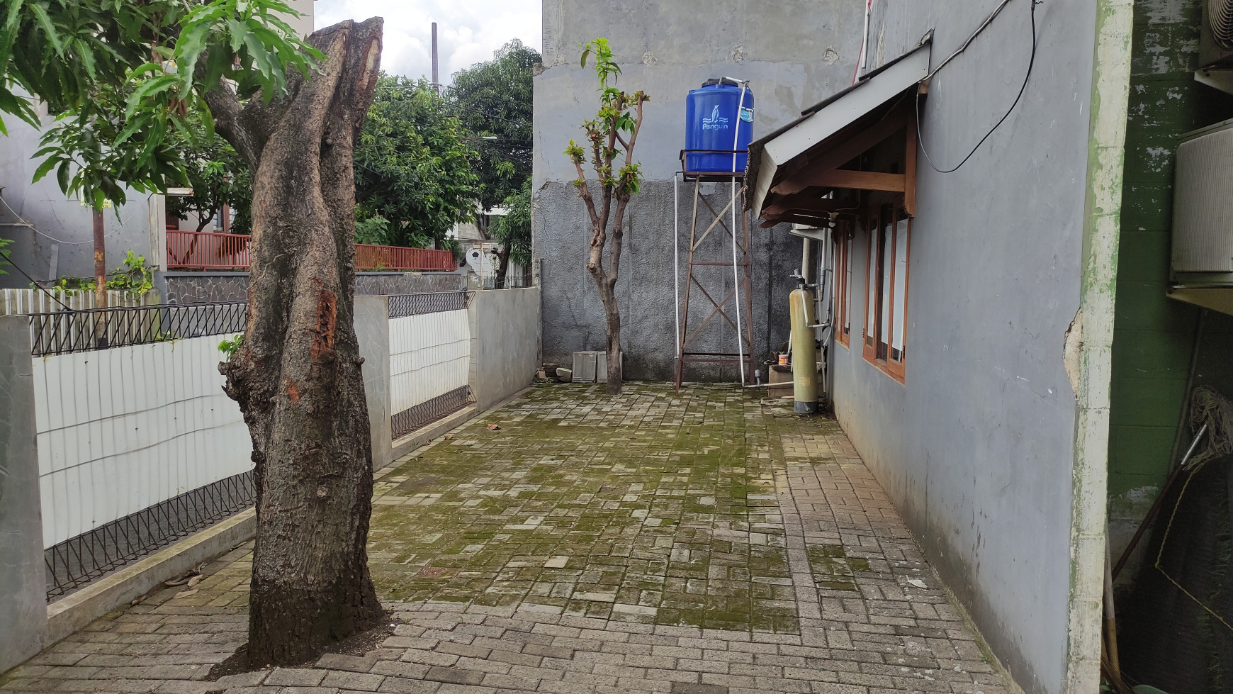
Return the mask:
<svg viewBox="0 0 1233 694"><path fill-rule="evenodd" d="M488 409L535 378L539 369L540 290L485 290L471 297L471 392Z"/></svg>

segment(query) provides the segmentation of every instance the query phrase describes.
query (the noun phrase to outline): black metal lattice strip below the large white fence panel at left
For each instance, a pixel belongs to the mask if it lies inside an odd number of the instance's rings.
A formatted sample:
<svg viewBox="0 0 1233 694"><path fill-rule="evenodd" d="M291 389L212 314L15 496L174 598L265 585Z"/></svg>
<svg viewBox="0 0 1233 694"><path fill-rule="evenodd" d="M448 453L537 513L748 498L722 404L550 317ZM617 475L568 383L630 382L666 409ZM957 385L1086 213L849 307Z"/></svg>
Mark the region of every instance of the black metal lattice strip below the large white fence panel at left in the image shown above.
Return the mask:
<svg viewBox="0 0 1233 694"><path fill-rule="evenodd" d="M150 555L253 505L253 472L242 472L100 525L43 551L47 600Z"/></svg>

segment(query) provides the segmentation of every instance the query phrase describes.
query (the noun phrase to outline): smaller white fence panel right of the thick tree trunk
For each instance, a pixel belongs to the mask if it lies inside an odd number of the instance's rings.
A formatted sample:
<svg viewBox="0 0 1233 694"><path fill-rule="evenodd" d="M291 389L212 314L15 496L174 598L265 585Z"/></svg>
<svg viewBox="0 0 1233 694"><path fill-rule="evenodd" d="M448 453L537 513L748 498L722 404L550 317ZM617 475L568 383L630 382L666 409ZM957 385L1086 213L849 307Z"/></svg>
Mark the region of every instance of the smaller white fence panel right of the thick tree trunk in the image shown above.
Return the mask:
<svg viewBox="0 0 1233 694"><path fill-rule="evenodd" d="M467 385L466 309L390 319L390 410L395 414Z"/></svg>

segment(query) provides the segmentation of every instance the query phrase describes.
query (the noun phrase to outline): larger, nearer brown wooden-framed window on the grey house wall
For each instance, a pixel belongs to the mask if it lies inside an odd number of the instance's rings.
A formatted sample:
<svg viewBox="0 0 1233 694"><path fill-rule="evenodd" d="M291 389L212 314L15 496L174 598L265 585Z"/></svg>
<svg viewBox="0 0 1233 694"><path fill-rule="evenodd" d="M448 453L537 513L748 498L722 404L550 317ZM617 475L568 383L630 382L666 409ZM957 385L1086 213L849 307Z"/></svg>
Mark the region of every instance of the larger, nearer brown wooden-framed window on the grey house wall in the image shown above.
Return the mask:
<svg viewBox="0 0 1233 694"><path fill-rule="evenodd" d="M863 354L866 361L903 382L911 218L903 207L882 205L869 221Z"/></svg>

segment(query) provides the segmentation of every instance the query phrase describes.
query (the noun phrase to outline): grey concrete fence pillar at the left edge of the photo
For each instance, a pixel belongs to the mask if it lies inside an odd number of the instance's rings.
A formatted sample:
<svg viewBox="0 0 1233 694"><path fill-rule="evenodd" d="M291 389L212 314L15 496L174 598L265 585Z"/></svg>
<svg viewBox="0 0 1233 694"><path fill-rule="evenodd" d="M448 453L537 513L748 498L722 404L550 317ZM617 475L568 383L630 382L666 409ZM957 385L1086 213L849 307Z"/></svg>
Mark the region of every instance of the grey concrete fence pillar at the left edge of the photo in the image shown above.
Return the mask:
<svg viewBox="0 0 1233 694"><path fill-rule="evenodd" d="M0 317L0 673L47 645L30 320Z"/></svg>

